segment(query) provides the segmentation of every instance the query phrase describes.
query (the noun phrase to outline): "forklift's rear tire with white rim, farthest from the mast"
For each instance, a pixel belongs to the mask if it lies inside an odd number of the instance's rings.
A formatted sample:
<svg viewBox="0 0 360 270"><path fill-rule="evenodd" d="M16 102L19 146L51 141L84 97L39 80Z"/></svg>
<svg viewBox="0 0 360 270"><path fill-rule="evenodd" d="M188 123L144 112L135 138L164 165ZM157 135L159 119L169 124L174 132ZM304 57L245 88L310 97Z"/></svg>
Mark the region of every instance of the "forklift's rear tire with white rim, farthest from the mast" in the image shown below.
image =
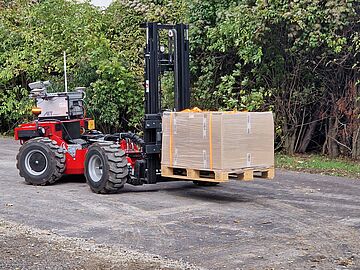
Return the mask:
<svg viewBox="0 0 360 270"><path fill-rule="evenodd" d="M65 171L64 149L49 138L28 140L20 147L16 159L20 176L32 185L53 184Z"/></svg>

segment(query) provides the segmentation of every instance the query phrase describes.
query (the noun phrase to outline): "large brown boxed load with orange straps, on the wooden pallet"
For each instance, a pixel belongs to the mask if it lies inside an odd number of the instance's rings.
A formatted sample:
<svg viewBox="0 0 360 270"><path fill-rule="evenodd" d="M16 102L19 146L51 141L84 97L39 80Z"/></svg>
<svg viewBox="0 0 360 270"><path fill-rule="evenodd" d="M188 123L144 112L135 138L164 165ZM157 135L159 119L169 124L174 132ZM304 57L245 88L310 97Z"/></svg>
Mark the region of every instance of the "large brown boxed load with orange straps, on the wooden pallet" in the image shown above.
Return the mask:
<svg viewBox="0 0 360 270"><path fill-rule="evenodd" d="M162 165L231 170L274 166L271 112L165 112Z"/></svg>

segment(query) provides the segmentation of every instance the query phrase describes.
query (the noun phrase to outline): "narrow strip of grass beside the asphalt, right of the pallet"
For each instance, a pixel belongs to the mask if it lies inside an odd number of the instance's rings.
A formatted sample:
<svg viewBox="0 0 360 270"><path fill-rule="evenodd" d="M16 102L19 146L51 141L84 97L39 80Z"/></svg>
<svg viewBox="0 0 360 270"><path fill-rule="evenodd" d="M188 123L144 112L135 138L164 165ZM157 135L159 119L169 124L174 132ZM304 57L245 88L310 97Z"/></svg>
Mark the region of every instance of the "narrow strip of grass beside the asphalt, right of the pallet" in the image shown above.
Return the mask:
<svg viewBox="0 0 360 270"><path fill-rule="evenodd" d="M275 162L278 168L360 179L360 163L345 158L276 154Z"/></svg>

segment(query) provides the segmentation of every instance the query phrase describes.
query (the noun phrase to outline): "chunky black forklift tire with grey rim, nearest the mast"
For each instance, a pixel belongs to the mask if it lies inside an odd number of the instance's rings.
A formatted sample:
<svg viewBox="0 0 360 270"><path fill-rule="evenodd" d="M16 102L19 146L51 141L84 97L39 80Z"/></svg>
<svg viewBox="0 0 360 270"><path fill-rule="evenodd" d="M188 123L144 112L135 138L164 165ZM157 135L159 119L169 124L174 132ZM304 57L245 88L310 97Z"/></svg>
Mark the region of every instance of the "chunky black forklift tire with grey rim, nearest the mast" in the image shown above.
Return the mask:
<svg viewBox="0 0 360 270"><path fill-rule="evenodd" d="M95 193L117 193L128 179L125 152L113 142L91 145L85 158L85 177Z"/></svg>

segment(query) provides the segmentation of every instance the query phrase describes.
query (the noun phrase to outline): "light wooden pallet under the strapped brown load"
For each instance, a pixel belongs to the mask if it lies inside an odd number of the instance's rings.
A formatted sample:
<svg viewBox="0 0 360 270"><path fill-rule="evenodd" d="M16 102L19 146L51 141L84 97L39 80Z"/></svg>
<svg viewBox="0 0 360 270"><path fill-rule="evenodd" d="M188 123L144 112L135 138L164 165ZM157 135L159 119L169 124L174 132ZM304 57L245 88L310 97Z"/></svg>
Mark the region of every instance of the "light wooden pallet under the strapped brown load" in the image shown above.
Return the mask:
<svg viewBox="0 0 360 270"><path fill-rule="evenodd" d="M161 175L169 178L183 180L197 180L208 182L228 182L230 179L250 181L255 177L273 179L275 176L274 167L268 168L244 168L239 170L198 170L190 168L178 168L161 166Z"/></svg>

